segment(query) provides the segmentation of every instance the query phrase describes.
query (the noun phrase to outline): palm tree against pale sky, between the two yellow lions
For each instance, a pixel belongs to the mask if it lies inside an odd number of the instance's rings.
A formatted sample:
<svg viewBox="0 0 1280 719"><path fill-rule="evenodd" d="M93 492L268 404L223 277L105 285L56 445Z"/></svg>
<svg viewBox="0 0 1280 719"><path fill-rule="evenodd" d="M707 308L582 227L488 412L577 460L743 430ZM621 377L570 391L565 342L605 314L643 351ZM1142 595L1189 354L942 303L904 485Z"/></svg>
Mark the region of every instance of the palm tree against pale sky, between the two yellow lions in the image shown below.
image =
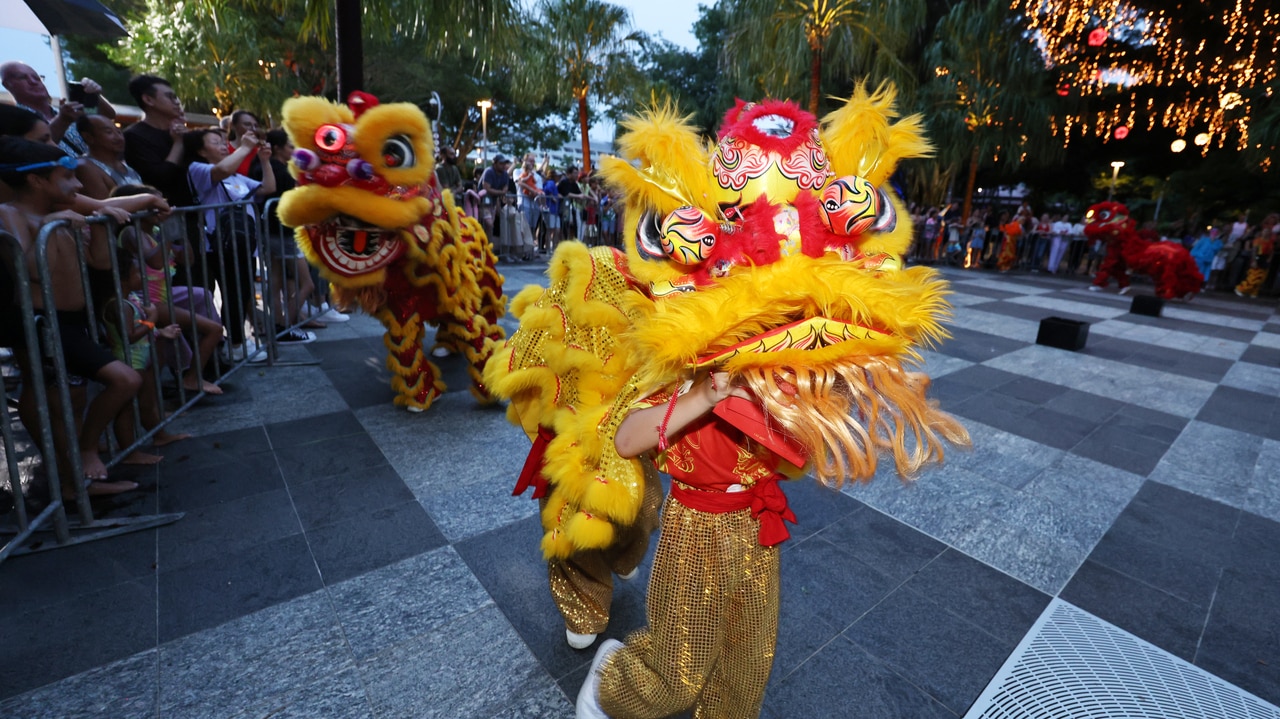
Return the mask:
<svg viewBox="0 0 1280 719"><path fill-rule="evenodd" d="M622 97L641 82L631 50L643 35L630 29L628 13L603 0L541 0L530 32L527 59L516 65L524 84L577 102L582 133L582 173L591 169L588 95ZM531 60L531 61L530 61Z"/></svg>

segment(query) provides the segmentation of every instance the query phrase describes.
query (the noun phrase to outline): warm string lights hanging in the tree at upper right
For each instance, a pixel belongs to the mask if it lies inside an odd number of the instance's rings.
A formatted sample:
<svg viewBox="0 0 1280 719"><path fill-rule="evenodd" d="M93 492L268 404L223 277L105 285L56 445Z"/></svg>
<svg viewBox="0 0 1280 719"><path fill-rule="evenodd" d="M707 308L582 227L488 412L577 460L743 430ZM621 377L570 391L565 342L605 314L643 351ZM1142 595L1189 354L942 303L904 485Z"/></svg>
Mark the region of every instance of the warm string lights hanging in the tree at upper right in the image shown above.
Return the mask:
<svg viewBox="0 0 1280 719"><path fill-rule="evenodd" d="M1280 72L1274 0L1010 0L1061 88L1088 110L1055 133L1123 139L1120 127L1203 134L1202 152L1249 145L1253 97Z"/></svg>

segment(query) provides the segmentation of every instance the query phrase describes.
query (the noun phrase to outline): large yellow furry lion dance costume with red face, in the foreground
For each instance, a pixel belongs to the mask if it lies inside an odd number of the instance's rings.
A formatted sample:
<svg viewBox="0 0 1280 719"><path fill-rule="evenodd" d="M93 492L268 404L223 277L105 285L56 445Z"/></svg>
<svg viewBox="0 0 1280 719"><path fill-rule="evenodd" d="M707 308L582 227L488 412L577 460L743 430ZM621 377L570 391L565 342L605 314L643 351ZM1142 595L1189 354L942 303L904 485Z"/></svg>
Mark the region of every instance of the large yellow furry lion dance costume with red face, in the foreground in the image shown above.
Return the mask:
<svg viewBox="0 0 1280 719"><path fill-rule="evenodd" d="M626 249L564 243L549 287L512 302L520 330L485 380L534 440L516 491L532 486L541 500L571 645L603 631L611 572L636 567L655 525L649 463L614 446L641 399L728 372L763 416L742 431L787 461L788 476L831 486L869 480L881 455L909 478L941 462L946 443L968 445L911 367L918 347L946 336L950 307L932 269L901 266L911 228L882 187L929 146L918 116L895 122L893 95L859 90L820 125L792 102L740 101L716 145L671 107L631 118L627 160L600 162L623 197ZM669 468L669 453L660 458ZM785 499L777 513L792 519ZM769 542L782 541L773 523ZM657 560L654 572L658 582Z"/></svg>

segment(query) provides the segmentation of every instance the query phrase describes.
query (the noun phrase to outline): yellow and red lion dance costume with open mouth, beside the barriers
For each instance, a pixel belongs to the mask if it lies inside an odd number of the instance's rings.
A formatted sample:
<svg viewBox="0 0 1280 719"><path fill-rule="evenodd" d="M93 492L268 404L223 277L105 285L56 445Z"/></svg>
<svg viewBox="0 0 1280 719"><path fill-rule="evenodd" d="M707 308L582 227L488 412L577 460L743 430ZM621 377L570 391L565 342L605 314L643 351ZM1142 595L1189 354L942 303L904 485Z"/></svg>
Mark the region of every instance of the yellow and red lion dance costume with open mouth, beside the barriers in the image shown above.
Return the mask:
<svg viewBox="0 0 1280 719"><path fill-rule="evenodd" d="M480 223L436 186L426 116L355 92L348 105L288 100L283 118L298 187L280 198L280 221L297 228L334 302L387 328L396 403L422 411L445 389L422 353L428 324L436 345L466 357L472 394L490 400L481 372L504 336L503 278Z"/></svg>

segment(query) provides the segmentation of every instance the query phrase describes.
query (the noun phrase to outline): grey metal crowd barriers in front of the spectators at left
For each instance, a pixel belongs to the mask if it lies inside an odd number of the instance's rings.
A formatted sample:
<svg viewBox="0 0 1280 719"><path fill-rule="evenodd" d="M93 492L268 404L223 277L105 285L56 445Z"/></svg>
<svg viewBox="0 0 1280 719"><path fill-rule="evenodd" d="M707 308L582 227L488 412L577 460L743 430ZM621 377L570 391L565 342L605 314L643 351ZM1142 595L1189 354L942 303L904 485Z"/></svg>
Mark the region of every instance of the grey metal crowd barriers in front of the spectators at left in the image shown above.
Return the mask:
<svg viewBox="0 0 1280 719"><path fill-rule="evenodd" d="M120 461L128 457L132 452L150 443L151 438L164 430L173 420L182 416L184 412L191 409L201 398L206 395L204 390L205 383L205 366L206 362L212 363L212 372L216 379L212 380L214 384L223 384L228 377L234 375L246 365L253 362L259 352L265 353L265 362L268 366L284 366L284 365L317 365L319 361L291 361L282 362L278 352L276 338L287 331L298 330L301 325L307 322L310 317L302 312L301 297L298 293L291 297L291 289L300 289L305 287L315 287L316 283L312 281L310 275L310 269L305 261L297 260L297 257L278 256L280 249L285 248L285 239L288 244L292 244L292 230L288 228L282 228L279 225L271 225L265 220L269 212L274 210L274 202L268 203L265 209L255 212L255 216L250 216L248 212L243 211L252 201L239 201L239 202L224 202L212 205L198 205L192 207L182 207L175 210L170 219L160 223L152 235L156 247L155 252L160 253L161 265L164 267L163 281L165 288L163 296L165 297L168 317L175 319L177 310L184 310L189 315L189 321L187 322L173 322L179 324L183 329L183 336L189 340L192 349L191 362L195 366L195 375L198 377L197 390L188 390L184 386L183 375L187 370L182 367L180 363L177 366L161 366L160 357L157 353L157 343L150 343L150 366L155 368L151 374L155 389L155 397L160 412L160 422L151 427L150 430L141 426L142 411L138 404L137 398L132 400L133 406L133 436L136 438L133 443L128 446L118 446L114 441L114 432L110 431L110 425L105 432L109 439L110 458L105 461L108 468L111 468L120 463ZM205 225L209 212L214 216L219 211L227 211L230 214L230 221L215 223L215 232L209 234L206 238ZM151 216L151 212L141 212L133 216L133 226L138 226L138 220L146 220ZM237 224L238 223L238 224ZM143 297L150 297L151 283L155 280L148 276L145 269L141 269L141 264L146 262L147 252L143 247L143 241L140 238L140 229L129 229L128 226L116 229L114 221L108 219L93 219L90 224L105 225L105 230L109 233L110 251L106 255L110 257L110 298L115 299L115 326L120 328L116 334L119 344L122 344L123 356L129 358L132 356L132 343L129 343L125 326L129 326L124 316L124 303L120 301L125 293L122 289L122 267L119 266L115 248L122 246L132 244L131 249L134 253L134 261L140 262L140 271L142 273L142 294ZM52 233L63 228L69 228L70 224L67 220L59 220L55 223L49 223L41 228L35 247L32 248L36 255L37 271L40 278L40 292L42 306L46 308L56 307L54 303L54 293L51 285L51 269L49 266L49 243ZM243 237L248 237L252 233L256 237L256 243L243 244L234 242L233 238L237 234L237 228ZM288 237L284 237L288 233ZM195 237L195 241L191 237ZM132 238L132 239L131 239ZM79 275L82 278L82 290L84 293L84 313L90 319L88 330L93 342L101 343L104 339L100 336L97 319L101 317L99 307L95 302L95 288L90 283L90 262L86 256L86 248L82 242L76 242L76 253L78 261ZM9 274L14 278L17 285L17 302L20 307L20 316L23 324L23 336L26 348L20 349L26 352L27 367L22 376L23 383L31 383L32 391L35 394L33 400L38 409L38 426L28 427L28 431L36 434L32 438L36 445L40 448L40 454L44 459L44 468L47 475L47 484L50 487L49 504L40 512L35 518L29 517L27 508L28 500L26 496L26 487L22 481L22 471L19 466L19 459L22 458L20 438L18 432L14 431L9 417L5 417L3 425L3 439L4 439L4 452L6 458L8 468L8 485L13 494L14 502L14 526L0 526L0 535L13 535L3 548L0 548L0 562L5 558L15 554L26 554L29 551L38 551L42 549L52 549L58 546L67 546L72 544L79 544L84 541L91 541L96 539L102 539L108 536L114 536L124 532L138 531L143 528L150 528L160 525L166 525L174 522L182 517L180 513L177 514L154 514L145 517L124 517L124 518L95 518L92 508L88 502L87 482L76 482L76 498L77 508L79 513L78 522L68 522L65 508L61 498L61 480L63 476L59 471L60 464L69 463L69 476L83 477L83 467L81 466L79 452L77 452L76 439L78 436L74 413L72 411L70 403L70 386L69 375L67 371L67 360L63 356L61 343L59 338L58 328L58 313L56 312L35 312L32 307L32 283L28 276L27 264L23 261L23 248L20 243L12 235L0 234L0 255L4 256ZM306 273L306 276L303 276ZM261 278L261 281L259 281ZM219 292L214 293L212 288L219 288ZM177 290L177 292L175 292ZM101 290L99 290L101 292ZM180 294L182 299L175 299L175 294ZM108 302L110 302L110 298ZM8 303L8 298L6 302ZM212 357L204 357L200 348L200 334L196 330L197 313L205 313L210 308L216 308L220 311L220 320L224 326L223 330L223 344L224 347L230 347L228 338L232 333L228 329L228 322L239 324L242 328L247 322L252 326L252 342L250 342L250 334L244 333L244 340L241 347L236 351L227 352L225 357L218 352L212 353ZM276 319L280 316L283 322L278 322ZM244 330L241 330L244 331ZM237 333L239 335L239 333ZM180 342L180 340L174 340ZM17 349L17 348L15 348ZM46 362L51 362L51 370L54 372L52 383L46 383ZM125 361L128 363L128 361ZM170 368L175 380L175 393L177 393L177 409L172 412L165 412L164 408L164 385L163 385L163 371ZM54 417L50 412L50 397L47 394L47 388L54 386L58 390L58 399L60 400L61 412L59 417ZM3 397L5 400L5 408L8 411L9 398ZM67 455L59 455L55 450L54 444L54 429L58 426L55 422L61 422L61 429L64 436L69 438L69 452ZM46 531L51 528L55 533L56 544L54 542L31 542L33 533L37 531Z"/></svg>

